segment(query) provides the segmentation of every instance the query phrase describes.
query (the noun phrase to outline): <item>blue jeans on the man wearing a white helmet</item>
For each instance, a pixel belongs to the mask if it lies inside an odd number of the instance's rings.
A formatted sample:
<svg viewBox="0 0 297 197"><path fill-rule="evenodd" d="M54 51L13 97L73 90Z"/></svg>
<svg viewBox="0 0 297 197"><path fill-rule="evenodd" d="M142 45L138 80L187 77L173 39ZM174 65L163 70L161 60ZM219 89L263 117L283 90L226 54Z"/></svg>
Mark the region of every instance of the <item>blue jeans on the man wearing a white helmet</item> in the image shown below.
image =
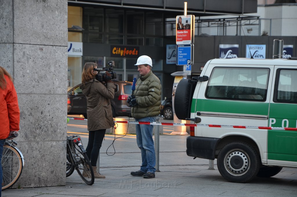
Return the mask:
<svg viewBox="0 0 297 197"><path fill-rule="evenodd" d="M153 117L135 118L135 121L155 122ZM136 124L136 141L140 148L142 164L140 171L147 173L155 173L156 168L156 154L153 141L153 125Z"/></svg>

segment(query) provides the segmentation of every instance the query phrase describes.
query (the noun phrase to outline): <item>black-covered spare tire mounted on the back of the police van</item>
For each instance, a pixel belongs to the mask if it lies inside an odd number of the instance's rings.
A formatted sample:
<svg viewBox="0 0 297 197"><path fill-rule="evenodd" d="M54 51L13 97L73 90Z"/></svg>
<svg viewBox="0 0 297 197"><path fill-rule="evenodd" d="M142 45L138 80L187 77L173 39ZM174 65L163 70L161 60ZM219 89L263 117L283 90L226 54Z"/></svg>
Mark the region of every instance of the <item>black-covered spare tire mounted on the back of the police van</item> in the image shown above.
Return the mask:
<svg viewBox="0 0 297 197"><path fill-rule="evenodd" d="M190 101L191 83L188 81L189 79L181 79L174 95L174 112L180 120L190 118L188 112L191 109L192 98Z"/></svg>

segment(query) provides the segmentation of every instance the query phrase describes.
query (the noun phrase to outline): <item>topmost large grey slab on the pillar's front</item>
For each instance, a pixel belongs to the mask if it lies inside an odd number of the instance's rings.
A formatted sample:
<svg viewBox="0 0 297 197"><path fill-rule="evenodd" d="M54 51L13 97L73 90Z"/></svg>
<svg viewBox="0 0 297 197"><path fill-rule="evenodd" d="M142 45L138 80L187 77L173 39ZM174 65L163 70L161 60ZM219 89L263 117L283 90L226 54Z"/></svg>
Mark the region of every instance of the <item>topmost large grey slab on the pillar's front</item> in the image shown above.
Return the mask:
<svg viewBox="0 0 297 197"><path fill-rule="evenodd" d="M67 46L67 10L65 0L14 0L14 43Z"/></svg>

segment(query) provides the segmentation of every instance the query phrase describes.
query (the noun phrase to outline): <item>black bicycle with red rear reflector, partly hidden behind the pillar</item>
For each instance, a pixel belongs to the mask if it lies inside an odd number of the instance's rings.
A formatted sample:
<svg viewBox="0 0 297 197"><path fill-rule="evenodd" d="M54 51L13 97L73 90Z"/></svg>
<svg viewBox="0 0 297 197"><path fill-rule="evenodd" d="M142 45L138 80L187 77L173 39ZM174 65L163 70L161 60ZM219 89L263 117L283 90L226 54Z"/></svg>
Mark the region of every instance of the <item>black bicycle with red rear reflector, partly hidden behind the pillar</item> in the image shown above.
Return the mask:
<svg viewBox="0 0 297 197"><path fill-rule="evenodd" d="M80 141L81 139L78 135L67 135L66 177L70 176L76 169L86 184L93 185L95 180L94 171Z"/></svg>

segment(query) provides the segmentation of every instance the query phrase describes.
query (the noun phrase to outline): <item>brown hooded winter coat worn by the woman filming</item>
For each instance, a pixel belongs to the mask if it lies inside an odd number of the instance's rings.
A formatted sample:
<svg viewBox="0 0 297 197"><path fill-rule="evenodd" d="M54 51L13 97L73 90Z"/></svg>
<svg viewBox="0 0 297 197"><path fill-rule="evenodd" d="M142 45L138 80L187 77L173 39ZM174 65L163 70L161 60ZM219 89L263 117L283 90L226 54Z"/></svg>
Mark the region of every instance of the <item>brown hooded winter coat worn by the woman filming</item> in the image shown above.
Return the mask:
<svg viewBox="0 0 297 197"><path fill-rule="evenodd" d="M87 98L88 131L108 129L113 126L113 117L110 100L114 98L116 86L108 82L106 87L103 82L92 79L79 85Z"/></svg>

